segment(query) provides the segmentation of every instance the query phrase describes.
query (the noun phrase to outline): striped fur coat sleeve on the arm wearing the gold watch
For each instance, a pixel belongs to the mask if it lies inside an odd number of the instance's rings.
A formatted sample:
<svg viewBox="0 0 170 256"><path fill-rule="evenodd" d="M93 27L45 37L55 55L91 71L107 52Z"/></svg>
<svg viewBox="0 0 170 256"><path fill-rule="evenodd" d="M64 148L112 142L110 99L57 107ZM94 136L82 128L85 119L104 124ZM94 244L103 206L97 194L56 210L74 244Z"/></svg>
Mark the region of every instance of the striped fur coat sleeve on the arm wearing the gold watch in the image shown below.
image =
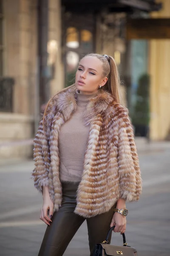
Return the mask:
<svg viewBox="0 0 170 256"><path fill-rule="evenodd" d="M122 108L119 118L118 172L120 198L137 201L142 192L139 158L128 110Z"/></svg>

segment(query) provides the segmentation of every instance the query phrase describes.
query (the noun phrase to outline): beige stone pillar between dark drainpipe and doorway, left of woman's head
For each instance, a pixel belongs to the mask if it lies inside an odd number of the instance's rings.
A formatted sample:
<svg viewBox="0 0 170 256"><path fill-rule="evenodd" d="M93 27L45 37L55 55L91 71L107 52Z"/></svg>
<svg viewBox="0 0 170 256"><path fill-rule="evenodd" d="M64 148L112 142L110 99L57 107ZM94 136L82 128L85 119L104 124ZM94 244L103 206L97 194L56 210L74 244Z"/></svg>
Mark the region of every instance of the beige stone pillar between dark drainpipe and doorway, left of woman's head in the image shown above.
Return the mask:
<svg viewBox="0 0 170 256"><path fill-rule="evenodd" d="M62 63L62 24L61 24L60 0L49 0L49 32L48 42L56 44L56 56L54 56L54 79L51 80L51 96L64 88L64 70Z"/></svg>

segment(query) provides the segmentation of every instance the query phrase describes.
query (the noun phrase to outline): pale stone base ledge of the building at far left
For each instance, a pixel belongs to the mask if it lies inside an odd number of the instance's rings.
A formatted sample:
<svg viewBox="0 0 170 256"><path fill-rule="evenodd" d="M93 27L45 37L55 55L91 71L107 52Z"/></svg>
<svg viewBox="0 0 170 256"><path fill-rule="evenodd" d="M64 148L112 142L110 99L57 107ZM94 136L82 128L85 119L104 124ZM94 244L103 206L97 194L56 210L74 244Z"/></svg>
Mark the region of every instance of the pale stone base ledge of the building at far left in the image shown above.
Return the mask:
<svg viewBox="0 0 170 256"><path fill-rule="evenodd" d="M32 125L31 125L32 124ZM33 118L17 113L0 113L0 160L33 155Z"/></svg>

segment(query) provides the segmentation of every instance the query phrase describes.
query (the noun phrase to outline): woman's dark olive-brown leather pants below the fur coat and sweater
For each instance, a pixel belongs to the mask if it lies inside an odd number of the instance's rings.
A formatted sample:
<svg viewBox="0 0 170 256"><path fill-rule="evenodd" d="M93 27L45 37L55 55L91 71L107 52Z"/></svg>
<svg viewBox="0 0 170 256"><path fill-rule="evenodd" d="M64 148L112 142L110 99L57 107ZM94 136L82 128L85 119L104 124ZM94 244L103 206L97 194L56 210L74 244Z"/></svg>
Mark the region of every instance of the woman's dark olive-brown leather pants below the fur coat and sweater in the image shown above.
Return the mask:
<svg viewBox="0 0 170 256"><path fill-rule="evenodd" d="M62 183L62 205L58 212L54 212L52 223L45 231L38 256L62 256L85 221L85 218L74 213L78 185L79 183ZM115 205L108 212L86 219L90 256L93 256L95 244L105 240L114 208Z"/></svg>

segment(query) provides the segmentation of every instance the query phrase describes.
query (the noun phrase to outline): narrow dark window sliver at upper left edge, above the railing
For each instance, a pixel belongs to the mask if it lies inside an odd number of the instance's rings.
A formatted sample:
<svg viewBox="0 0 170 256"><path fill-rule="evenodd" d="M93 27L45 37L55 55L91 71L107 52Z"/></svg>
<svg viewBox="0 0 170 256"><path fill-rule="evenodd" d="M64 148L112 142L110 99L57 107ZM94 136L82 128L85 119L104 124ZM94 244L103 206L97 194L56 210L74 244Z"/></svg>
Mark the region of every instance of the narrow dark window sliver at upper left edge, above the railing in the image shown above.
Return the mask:
<svg viewBox="0 0 170 256"><path fill-rule="evenodd" d="M3 76L3 3L0 0L0 76Z"/></svg>

